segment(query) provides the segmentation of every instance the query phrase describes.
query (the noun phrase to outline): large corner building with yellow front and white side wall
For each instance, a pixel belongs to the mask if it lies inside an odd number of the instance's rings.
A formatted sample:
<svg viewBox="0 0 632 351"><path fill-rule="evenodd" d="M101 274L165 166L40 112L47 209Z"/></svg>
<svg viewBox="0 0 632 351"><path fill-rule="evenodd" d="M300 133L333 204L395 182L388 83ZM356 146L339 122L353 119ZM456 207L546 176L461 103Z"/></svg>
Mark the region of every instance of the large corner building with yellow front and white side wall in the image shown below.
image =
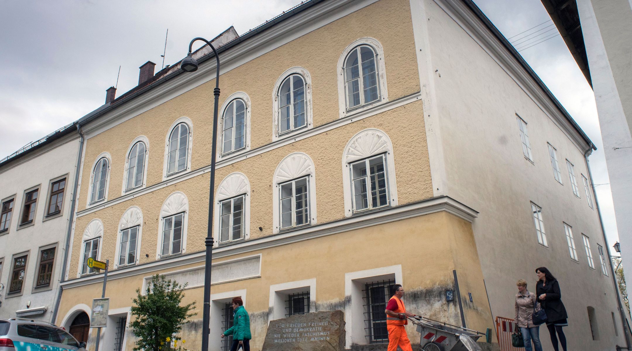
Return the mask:
<svg viewBox="0 0 632 351"><path fill-rule="evenodd" d="M254 350L270 321L336 309L347 348L383 343L394 283L411 311L495 329L496 316L513 317L516 280L535 289L538 266L560 281L571 348L623 344L589 185L593 145L471 1L313 0L220 45L212 349L225 347L236 296ZM137 88L78 122L56 323L68 330L90 314L103 273L87 259L109 259L100 350L131 350L131 299L156 273L188 283L198 315L182 336L199 348L207 52L193 74L178 64L154 74L147 62Z"/></svg>

